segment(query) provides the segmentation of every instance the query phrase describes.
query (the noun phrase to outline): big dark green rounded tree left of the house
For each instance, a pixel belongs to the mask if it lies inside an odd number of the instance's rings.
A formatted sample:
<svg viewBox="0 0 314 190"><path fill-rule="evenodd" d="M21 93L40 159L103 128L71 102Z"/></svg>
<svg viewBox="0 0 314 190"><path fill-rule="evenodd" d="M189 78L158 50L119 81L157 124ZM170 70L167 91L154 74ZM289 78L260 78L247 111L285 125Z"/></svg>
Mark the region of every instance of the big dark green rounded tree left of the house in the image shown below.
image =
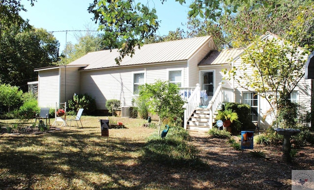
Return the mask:
<svg viewBox="0 0 314 190"><path fill-rule="evenodd" d="M26 92L27 81L37 78L34 69L56 61L59 43L45 29L18 24L11 24L1 35L0 80Z"/></svg>

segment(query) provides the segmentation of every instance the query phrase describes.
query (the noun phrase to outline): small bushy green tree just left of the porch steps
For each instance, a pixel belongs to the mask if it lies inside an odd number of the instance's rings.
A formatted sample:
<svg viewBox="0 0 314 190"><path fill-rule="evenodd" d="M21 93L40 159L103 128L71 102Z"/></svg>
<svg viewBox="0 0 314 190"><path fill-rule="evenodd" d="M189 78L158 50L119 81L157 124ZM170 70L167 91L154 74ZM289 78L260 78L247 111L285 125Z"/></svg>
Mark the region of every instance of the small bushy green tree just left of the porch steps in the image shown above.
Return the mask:
<svg viewBox="0 0 314 190"><path fill-rule="evenodd" d="M160 80L154 84L146 83L139 92L139 98L148 103L149 111L158 115L158 134L164 119L183 115L184 101L178 92L179 87L176 84Z"/></svg>

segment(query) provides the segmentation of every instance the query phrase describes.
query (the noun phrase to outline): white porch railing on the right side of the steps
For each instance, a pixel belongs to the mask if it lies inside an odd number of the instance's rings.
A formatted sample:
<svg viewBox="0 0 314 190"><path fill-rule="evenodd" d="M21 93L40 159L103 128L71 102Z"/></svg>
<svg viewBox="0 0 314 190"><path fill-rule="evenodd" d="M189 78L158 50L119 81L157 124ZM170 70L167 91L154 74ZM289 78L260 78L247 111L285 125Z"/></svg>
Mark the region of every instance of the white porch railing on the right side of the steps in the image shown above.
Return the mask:
<svg viewBox="0 0 314 190"><path fill-rule="evenodd" d="M209 109L209 120L212 121L213 113L222 106L223 102L234 102L235 101L235 92L234 89L226 88L219 84L215 94L212 96L207 109ZM212 126L212 125L210 125Z"/></svg>

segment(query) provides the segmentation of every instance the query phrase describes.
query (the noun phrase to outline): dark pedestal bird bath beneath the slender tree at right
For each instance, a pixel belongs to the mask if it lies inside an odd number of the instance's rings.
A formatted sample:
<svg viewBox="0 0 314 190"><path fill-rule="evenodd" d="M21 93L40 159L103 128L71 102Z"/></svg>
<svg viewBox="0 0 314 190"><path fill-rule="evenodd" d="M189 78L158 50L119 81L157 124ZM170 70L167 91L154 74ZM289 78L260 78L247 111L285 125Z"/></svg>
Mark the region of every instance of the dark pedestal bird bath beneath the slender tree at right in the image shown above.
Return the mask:
<svg viewBox="0 0 314 190"><path fill-rule="evenodd" d="M297 135L300 133L300 129L281 129L281 128L276 128L275 131L277 131L278 134L284 136L284 143L283 143L283 161L285 162L291 162L291 156L290 156L290 151L291 151L291 144L290 144L290 137Z"/></svg>

